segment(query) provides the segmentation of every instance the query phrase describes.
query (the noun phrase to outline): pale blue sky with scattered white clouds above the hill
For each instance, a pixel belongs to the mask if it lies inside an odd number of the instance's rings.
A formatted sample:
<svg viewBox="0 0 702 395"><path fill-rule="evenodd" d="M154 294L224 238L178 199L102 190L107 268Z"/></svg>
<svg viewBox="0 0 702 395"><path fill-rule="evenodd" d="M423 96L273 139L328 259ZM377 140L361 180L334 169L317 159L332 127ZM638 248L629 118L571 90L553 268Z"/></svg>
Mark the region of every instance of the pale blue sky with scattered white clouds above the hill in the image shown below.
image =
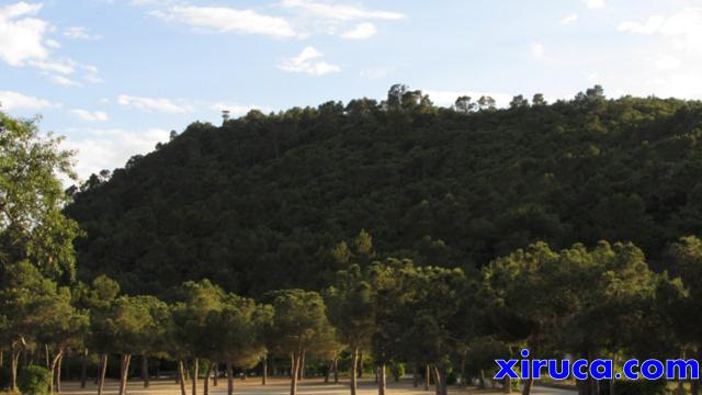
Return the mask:
<svg viewBox="0 0 702 395"><path fill-rule="evenodd" d="M541 92L702 99L702 0L0 0L0 111L81 179L251 109Z"/></svg>

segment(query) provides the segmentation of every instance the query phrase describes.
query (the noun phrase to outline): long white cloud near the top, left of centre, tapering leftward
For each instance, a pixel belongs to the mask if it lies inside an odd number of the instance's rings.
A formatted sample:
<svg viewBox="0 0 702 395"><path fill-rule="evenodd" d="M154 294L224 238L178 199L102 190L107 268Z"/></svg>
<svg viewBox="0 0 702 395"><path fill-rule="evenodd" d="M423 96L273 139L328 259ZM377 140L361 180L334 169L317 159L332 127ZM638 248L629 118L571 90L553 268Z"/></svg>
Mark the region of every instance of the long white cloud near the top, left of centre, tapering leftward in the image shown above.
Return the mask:
<svg viewBox="0 0 702 395"><path fill-rule="evenodd" d="M253 10L237 10L227 7L176 5L166 11L154 11L151 14L165 20L222 33L262 34L273 38L290 38L298 35L286 20L263 15Z"/></svg>

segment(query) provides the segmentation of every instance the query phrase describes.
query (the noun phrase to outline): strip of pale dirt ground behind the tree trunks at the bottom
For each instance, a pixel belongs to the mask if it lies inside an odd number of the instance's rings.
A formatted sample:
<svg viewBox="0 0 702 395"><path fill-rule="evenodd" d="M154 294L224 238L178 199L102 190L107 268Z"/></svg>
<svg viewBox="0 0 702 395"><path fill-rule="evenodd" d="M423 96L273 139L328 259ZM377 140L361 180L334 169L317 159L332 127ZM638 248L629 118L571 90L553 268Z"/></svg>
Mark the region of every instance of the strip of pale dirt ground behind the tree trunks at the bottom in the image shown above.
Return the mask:
<svg viewBox="0 0 702 395"><path fill-rule="evenodd" d="M105 383L105 395L114 395L117 393L118 383L116 381L109 381ZM202 381L199 383L197 393L202 394ZM227 393L227 381L219 380L219 385L216 387L211 386L210 393L212 395L224 395ZM65 382L61 383L61 394L70 395L95 395L98 393L97 386L89 383L86 388L80 388L79 383ZM127 386L127 393L131 395L179 395L180 386L172 380L159 380L152 381L149 388L144 388L140 381L131 381ZM267 386L262 386L260 379L249 379L246 381L235 380L234 382L235 395L287 395L290 394L290 382L285 379L271 379ZM297 393L301 395L348 395L349 387L347 383L339 384L325 384L320 379L305 380L297 387ZM372 381L362 381L359 387L359 395L375 395L377 394L377 387ZM477 391L475 388L453 388L451 394L499 394L500 391ZM551 388L535 388L533 392L539 395L556 395L568 394L573 392L551 390ZM387 383L388 395L432 395L433 388L429 392L424 392L423 387L414 388L411 382L403 381L400 383L388 382ZM191 387L188 387L188 395L191 395Z"/></svg>

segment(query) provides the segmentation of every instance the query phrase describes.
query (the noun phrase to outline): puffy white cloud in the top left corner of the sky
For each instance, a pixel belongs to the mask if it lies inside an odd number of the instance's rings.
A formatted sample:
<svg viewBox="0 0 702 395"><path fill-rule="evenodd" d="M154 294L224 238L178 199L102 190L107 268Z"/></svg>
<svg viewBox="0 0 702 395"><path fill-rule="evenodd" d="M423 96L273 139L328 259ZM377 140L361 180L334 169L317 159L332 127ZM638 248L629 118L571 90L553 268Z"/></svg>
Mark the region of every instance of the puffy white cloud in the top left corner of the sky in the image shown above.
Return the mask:
<svg viewBox="0 0 702 395"><path fill-rule="evenodd" d="M0 59L11 66L23 66L30 59L45 59L44 34L48 23L31 18L42 4L24 1L0 8Z"/></svg>

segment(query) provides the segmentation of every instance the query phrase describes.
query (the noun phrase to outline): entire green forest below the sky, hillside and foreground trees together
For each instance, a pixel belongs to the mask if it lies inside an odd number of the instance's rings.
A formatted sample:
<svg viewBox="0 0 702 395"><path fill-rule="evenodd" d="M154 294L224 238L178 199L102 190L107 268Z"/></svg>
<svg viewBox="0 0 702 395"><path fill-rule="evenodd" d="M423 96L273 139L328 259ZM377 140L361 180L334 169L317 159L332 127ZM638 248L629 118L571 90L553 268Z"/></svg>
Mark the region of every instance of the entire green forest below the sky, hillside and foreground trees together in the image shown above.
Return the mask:
<svg viewBox="0 0 702 395"><path fill-rule="evenodd" d="M448 395L520 348L700 359L701 121L702 103L599 87L442 109L395 86L195 123L65 191L60 138L0 113L0 388L60 393L72 365L125 395L133 357L181 395L269 368L291 395L331 373L355 395L363 372L385 395L386 371ZM684 372L570 383L701 390Z"/></svg>

